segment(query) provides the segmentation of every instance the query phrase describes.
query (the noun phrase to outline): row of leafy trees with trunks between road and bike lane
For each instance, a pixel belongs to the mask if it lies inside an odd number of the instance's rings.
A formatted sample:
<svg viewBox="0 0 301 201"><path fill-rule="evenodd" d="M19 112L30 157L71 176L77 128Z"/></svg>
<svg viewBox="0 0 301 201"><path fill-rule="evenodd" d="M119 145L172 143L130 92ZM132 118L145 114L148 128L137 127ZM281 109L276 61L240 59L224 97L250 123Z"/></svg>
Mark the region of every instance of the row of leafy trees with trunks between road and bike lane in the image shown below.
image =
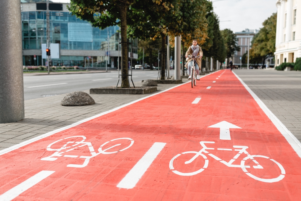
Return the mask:
<svg viewBox="0 0 301 201"><path fill-rule="evenodd" d="M121 32L122 88L128 81L128 37L150 42L161 49L161 77L165 79L166 36L182 36L183 54L192 39L197 39L204 56L222 61L227 55L223 32L207 0L71 0L69 10L93 26L104 29L118 25ZM172 42L172 41L171 41ZM183 62L184 63L184 62Z"/></svg>

